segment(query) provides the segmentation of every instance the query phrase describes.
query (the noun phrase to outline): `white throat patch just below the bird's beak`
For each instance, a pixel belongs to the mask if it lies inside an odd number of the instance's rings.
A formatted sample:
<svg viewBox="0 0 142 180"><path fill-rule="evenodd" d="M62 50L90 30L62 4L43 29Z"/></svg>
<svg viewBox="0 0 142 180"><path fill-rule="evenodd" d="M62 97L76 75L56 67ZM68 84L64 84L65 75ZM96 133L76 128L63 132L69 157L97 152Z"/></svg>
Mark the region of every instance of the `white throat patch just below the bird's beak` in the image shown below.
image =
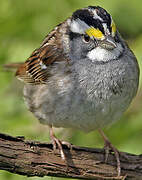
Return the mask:
<svg viewBox="0 0 142 180"><path fill-rule="evenodd" d="M96 47L92 51L90 51L87 54L87 57L92 61L92 62L97 62L97 61L104 61L107 62L109 60L117 59L120 54L123 52L123 47L120 43L117 43L117 47L111 51L103 49L101 47Z"/></svg>

